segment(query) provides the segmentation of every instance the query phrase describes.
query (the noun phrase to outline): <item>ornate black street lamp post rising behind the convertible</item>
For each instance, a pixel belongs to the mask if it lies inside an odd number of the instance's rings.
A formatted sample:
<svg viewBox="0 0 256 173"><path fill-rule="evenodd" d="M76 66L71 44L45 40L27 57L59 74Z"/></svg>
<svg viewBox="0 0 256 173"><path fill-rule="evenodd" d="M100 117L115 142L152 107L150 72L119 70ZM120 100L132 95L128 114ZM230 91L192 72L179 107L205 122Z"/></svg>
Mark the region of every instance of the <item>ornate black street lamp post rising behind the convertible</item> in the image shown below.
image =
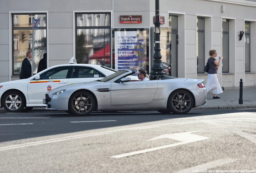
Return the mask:
<svg viewBox="0 0 256 173"><path fill-rule="evenodd" d="M156 75L164 75L165 72L163 72L163 66L162 66L162 55L161 55L161 49L160 49L160 14L159 14L159 0L155 0L155 53L153 55L153 66L152 66L152 72L150 73L150 79L152 80L154 76Z"/></svg>

